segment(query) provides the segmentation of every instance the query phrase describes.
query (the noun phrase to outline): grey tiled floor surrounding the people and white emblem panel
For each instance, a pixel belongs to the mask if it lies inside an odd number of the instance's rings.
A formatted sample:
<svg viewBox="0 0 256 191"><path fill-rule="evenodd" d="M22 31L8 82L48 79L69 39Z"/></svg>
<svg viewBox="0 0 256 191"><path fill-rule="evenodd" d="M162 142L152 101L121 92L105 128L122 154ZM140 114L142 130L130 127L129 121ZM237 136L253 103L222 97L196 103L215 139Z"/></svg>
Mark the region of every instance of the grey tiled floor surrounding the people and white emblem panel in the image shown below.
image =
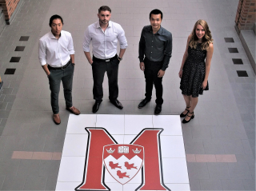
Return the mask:
<svg viewBox="0 0 256 191"><path fill-rule="evenodd" d="M110 6L112 20L126 31L128 48L119 68L119 100L124 109L104 101L98 113L153 114L154 101L144 109L137 105L145 93L145 81L138 68L138 41L142 27L149 25L150 10L163 12L162 26L173 34L174 50L163 79L162 114L179 114L185 104L179 90L178 70L186 48L186 38L194 22L205 19L214 38L210 69L210 90L199 97L195 118L182 125L186 154L234 154L237 162L188 162L191 190L255 190L255 74L250 66L234 19L238 0L23 0L10 26L0 36L0 189L54 190L59 161L12 159L14 151L62 152L69 113L60 94L61 125L51 120L50 90L46 74L38 62L38 39L50 28L49 18L60 14L63 30L74 38L74 105L91 113L91 67L82 51L86 26L97 21L98 7ZM28 41L19 41L29 36ZM225 42L224 38L234 38ZM16 46L26 46L22 52ZM237 48L231 54L228 48ZM19 62L10 62L21 57ZM241 58L243 65L234 65ZM16 69L13 75L6 69ZM238 77L245 70L248 77Z"/></svg>

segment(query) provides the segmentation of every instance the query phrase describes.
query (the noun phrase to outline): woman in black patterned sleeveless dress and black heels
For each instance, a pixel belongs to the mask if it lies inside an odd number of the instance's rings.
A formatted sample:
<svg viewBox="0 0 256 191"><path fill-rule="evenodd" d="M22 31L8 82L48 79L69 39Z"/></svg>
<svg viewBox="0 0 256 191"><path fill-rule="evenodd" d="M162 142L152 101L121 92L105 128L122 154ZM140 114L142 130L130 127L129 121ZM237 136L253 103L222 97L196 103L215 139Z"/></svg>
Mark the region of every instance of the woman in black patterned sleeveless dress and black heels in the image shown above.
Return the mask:
<svg viewBox="0 0 256 191"><path fill-rule="evenodd" d="M178 73L179 78L182 78L180 89L186 102L186 109L180 114L180 117L185 117L182 123L194 118L199 94L203 90L209 90L208 76L213 53L213 39L208 24L200 19L194 24L194 29L187 38L186 51Z"/></svg>

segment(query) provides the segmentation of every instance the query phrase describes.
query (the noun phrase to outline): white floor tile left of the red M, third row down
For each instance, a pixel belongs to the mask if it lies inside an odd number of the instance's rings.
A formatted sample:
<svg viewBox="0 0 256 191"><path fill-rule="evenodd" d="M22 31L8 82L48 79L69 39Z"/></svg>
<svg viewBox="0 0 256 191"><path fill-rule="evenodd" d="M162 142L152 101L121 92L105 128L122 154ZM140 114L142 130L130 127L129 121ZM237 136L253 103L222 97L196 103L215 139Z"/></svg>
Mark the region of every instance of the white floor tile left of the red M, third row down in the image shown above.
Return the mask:
<svg viewBox="0 0 256 191"><path fill-rule="evenodd" d="M78 181L82 183L86 157L62 157L58 171L58 181Z"/></svg>

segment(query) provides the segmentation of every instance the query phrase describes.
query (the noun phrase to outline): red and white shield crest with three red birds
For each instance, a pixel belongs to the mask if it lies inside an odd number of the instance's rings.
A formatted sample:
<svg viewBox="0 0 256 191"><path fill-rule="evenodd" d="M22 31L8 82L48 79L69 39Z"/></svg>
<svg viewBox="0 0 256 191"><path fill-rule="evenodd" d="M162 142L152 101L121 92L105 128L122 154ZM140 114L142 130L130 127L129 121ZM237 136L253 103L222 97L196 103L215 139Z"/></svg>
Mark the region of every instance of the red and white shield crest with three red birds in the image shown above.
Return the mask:
<svg viewBox="0 0 256 191"><path fill-rule="evenodd" d="M120 184L125 185L142 168L144 147L129 144L105 145L103 161L110 175Z"/></svg>

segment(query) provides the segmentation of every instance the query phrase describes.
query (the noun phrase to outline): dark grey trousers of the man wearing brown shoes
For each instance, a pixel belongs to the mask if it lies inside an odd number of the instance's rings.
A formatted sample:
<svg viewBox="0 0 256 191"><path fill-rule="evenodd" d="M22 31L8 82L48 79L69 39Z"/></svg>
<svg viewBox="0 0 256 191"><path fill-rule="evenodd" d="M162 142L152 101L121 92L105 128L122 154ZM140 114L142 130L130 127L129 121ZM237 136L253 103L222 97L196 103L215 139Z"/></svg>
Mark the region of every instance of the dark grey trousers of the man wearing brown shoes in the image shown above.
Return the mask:
<svg viewBox="0 0 256 191"><path fill-rule="evenodd" d="M50 70L49 85L50 85L50 104L54 114L59 112L58 108L58 94L62 81L64 89L64 97L66 101L66 107L72 107L72 84L74 75L74 65L70 63L64 70L55 70L48 66Z"/></svg>

